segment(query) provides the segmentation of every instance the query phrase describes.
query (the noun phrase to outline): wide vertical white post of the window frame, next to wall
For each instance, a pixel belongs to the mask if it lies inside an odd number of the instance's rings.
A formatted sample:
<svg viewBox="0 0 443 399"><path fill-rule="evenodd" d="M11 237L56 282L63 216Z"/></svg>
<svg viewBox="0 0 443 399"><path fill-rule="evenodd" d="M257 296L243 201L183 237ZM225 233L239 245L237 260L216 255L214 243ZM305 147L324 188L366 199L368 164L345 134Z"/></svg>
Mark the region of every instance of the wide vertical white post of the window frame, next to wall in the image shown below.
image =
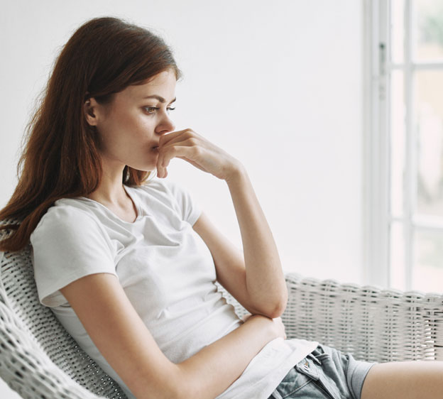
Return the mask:
<svg viewBox="0 0 443 399"><path fill-rule="evenodd" d="M388 21L383 0L363 4L363 281L389 285L389 142L385 73Z"/></svg>

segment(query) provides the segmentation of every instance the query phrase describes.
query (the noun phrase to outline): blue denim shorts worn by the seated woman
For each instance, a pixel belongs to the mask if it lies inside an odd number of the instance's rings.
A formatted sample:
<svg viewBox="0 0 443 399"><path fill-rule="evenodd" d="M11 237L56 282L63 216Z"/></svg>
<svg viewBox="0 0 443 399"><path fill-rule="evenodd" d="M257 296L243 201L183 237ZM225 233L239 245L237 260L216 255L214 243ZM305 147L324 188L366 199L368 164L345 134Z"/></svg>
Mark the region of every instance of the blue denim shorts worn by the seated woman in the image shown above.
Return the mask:
<svg viewBox="0 0 443 399"><path fill-rule="evenodd" d="M268 399L360 399L363 381L374 364L319 344L290 369Z"/></svg>

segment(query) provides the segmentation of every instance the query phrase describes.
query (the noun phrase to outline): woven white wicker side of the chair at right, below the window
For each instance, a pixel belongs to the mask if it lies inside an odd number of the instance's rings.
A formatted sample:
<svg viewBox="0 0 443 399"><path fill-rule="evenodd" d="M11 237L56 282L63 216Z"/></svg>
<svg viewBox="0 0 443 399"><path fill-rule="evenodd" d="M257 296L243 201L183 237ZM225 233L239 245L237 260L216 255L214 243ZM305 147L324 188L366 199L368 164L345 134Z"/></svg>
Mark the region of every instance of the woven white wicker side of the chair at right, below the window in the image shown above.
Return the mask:
<svg viewBox="0 0 443 399"><path fill-rule="evenodd" d="M443 295L286 275L288 338L319 341L365 361L443 360ZM220 288L239 315L246 310Z"/></svg>

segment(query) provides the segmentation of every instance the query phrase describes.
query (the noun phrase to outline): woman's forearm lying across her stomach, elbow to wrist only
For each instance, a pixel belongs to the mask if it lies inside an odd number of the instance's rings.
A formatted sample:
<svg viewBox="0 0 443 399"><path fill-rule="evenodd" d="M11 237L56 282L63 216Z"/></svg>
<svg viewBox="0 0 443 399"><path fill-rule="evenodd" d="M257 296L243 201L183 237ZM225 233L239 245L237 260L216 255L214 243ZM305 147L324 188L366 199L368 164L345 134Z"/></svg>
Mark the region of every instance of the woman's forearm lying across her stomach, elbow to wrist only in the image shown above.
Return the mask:
<svg viewBox="0 0 443 399"><path fill-rule="evenodd" d="M177 364L179 381L186 390L182 398L214 399L224 392L263 346L278 337L275 323L261 315L250 317L233 332Z"/></svg>

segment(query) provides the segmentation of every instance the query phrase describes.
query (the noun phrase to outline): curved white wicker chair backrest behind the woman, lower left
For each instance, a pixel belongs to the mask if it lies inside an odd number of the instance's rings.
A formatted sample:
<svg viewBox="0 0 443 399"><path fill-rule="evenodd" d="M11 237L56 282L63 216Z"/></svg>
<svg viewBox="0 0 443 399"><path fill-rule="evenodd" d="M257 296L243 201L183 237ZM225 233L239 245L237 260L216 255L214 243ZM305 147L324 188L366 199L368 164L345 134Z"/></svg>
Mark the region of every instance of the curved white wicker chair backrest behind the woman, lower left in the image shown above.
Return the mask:
<svg viewBox="0 0 443 399"><path fill-rule="evenodd" d="M23 397L126 399L40 304L29 244L0 252L0 376Z"/></svg>

